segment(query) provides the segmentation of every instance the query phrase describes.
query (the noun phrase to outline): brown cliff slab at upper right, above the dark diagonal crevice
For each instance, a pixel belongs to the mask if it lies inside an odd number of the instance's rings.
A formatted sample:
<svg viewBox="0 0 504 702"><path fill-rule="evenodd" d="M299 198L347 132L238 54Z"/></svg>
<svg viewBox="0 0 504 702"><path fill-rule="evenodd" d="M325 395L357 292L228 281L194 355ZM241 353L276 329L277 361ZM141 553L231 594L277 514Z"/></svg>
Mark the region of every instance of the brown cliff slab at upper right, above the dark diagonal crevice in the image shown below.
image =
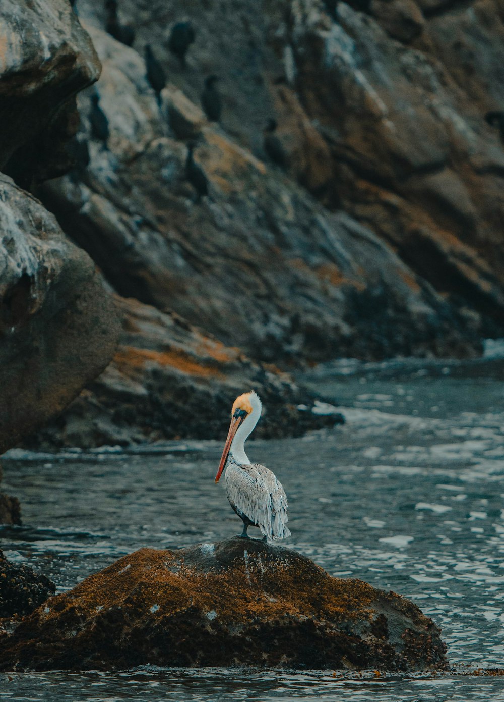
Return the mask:
<svg viewBox="0 0 504 702"><path fill-rule="evenodd" d="M450 305L475 310L480 333L500 335L504 152L483 116L504 98L503 81L486 79L499 71L504 31L491 0L475 13L451 6L423 22L409 0L373 0L375 22L342 2L331 21L307 0L292 5L284 41L301 105L331 143L346 211Z"/></svg>

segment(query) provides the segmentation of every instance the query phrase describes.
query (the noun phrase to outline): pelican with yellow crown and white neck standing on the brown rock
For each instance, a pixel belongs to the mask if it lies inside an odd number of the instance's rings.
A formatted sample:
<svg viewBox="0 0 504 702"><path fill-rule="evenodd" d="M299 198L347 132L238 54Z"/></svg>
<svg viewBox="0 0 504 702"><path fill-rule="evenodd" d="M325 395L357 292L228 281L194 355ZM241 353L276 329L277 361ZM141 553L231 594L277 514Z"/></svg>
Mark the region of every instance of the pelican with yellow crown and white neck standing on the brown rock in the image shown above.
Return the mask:
<svg viewBox="0 0 504 702"><path fill-rule="evenodd" d="M231 507L243 521L241 538L250 538L248 527L259 527L264 538L280 541L290 536L287 527L287 496L275 475L259 463L250 463L245 453L245 439L261 416L261 400L254 390L239 395L231 410L231 425L224 445L215 482L224 470Z"/></svg>

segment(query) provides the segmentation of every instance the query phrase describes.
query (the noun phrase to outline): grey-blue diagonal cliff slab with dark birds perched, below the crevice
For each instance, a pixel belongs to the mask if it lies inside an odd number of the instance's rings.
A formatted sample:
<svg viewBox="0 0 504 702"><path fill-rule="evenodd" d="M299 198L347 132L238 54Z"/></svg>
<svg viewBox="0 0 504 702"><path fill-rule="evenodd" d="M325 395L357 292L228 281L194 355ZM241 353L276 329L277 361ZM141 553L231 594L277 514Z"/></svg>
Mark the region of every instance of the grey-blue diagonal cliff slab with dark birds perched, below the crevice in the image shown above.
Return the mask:
<svg viewBox="0 0 504 702"><path fill-rule="evenodd" d="M86 7L79 4L82 17ZM273 13L268 4L265 11ZM97 91L110 136L106 145L92 138L90 99L79 96L90 164L45 185L41 197L118 293L175 310L266 362L477 352L477 314L468 323L392 246L295 182L326 200L335 183L327 140L292 88L274 93L290 114L278 131L294 169L284 175L207 123L179 86L165 88L160 108L141 56L89 31L103 63ZM304 133L304 146L292 131ZM203 199L186 179L189 138L198 139L195 159L207 178ZM489 281L497 290L490 273Z"/></svg>

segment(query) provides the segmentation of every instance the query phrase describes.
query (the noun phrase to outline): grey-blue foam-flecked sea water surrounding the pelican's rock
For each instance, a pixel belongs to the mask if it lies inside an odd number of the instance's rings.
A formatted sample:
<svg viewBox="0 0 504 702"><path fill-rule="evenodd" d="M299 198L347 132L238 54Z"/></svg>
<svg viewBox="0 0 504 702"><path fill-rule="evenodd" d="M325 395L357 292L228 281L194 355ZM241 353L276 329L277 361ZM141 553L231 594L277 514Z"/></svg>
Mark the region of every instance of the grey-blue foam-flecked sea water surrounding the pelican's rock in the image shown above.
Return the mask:
<svg viewBox="0 0 504 702"><path fill-rule="evenodd" d="M308 381L339 399L346 425L249 444L249 456L287 490L286 545L330 574L411 598L442 627L453 673L146 666L3 676L0 699L504 700L502 678L462 674L504 667L503 369L498 359L326 366ZM25 525L3 527L2 547L62 591L142 546L237 534L224 485L213 482L221 449L222 441L131 453L13 451L2 461L3 489L19 496Z"/></svg>

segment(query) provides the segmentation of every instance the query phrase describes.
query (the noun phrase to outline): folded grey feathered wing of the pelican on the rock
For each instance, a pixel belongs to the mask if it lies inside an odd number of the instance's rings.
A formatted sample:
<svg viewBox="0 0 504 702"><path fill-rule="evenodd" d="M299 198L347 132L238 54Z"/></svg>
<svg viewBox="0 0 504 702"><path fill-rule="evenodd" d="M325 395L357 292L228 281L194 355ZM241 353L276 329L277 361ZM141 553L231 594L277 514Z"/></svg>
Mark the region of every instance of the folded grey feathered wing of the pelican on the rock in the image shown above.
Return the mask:
<svg viewBox="0 0 504 702"><path fill-rule="evenodd" d="M290 536L287 495L271 470L259 463L236 465L235 470L226 471L226 489L231 503L264 536L275 541Z"/></svg>

